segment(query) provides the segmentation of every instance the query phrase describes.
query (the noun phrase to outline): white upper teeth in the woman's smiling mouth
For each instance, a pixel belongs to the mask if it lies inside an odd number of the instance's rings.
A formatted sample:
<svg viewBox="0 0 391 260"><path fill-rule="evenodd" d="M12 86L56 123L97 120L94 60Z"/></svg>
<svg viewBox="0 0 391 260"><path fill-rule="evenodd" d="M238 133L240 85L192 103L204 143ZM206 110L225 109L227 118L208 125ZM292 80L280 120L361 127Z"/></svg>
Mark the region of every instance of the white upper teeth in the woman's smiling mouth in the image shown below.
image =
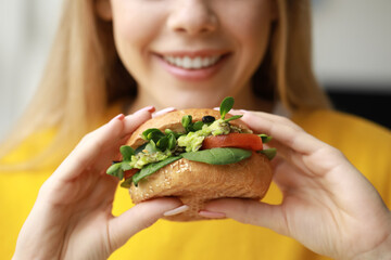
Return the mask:
<svg viewBox="0 0 391 260"><path fill-rule="evenodd" d="M207 56L207 57L189 57L189 56L164 56L164 60L172 65L177 67L182 67L187 69L198 69L203 67L210 67L216 64L217 61L220 60L220 55Z"/></svg>

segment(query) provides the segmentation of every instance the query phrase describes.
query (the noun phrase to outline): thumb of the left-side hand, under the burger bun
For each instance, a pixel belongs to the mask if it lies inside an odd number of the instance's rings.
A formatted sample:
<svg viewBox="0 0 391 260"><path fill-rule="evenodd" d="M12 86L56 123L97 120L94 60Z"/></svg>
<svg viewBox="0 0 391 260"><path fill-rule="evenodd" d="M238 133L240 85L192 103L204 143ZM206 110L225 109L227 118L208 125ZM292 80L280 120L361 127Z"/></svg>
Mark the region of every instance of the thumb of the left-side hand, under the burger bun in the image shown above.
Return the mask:
<svg viewBox="0 0 391 260"><path fill-rule="evenodd" d="M140 203L109 222L109 239L114 251L131 236L156 222L164 212L181 206L177 198L157 198Z"/></svg>

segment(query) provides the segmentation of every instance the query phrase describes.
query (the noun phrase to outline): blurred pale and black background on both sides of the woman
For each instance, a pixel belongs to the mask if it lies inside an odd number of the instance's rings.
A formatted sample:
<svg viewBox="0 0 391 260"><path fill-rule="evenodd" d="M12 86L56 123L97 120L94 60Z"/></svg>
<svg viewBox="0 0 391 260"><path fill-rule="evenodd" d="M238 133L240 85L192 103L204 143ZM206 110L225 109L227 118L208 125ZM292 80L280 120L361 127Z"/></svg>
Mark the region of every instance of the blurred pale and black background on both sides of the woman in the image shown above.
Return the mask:
<svg viewBox="0 0 391 260"><path fill-rule="evenodd" d="M0 1L0 139L38 86L61 6ZM391 1L313 0L313 23L315 72L335 106L391 128Z"/></svg>

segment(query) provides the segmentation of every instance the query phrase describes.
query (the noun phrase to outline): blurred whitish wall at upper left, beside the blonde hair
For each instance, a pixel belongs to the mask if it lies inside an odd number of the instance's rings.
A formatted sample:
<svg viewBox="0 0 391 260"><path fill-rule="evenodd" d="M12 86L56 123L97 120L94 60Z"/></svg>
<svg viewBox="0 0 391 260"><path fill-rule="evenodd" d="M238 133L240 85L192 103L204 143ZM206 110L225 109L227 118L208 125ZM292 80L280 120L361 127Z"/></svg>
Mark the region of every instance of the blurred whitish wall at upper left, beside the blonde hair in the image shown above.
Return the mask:
<svg viewBox="0 0 391 260"><path fill-rule="evenodd" d="M39 82L61 6L62 0L0 1L0 140Z"/></svg>

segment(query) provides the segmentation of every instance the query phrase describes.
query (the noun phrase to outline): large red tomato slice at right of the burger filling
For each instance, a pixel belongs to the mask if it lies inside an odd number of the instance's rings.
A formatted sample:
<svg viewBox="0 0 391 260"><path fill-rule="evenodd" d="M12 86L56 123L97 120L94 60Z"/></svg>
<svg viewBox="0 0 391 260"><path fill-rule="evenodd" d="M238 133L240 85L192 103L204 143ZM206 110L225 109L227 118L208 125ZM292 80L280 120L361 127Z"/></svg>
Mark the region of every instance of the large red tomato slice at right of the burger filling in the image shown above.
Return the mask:
<svg viewBox="0 0 391 260"><path fill-rule="evenodd" d="M262 139L253 133L228 133L216 136L207 136L202 143L202 150L216 147L237 147L244 150L261 151Z"/></svg>

